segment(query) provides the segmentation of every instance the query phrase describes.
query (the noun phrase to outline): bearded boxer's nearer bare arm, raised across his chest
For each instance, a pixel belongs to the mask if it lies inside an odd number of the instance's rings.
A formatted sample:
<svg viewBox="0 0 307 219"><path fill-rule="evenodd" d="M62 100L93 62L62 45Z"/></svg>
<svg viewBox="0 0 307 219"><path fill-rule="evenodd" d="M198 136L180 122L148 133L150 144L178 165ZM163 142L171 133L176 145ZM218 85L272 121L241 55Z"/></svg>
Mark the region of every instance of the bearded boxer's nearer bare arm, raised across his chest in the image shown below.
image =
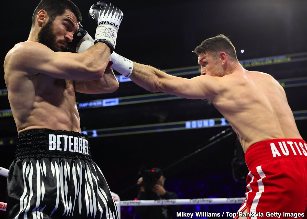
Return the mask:
<svg viewBox="0 0 307 219"><path fill-rule="evenodd" d="M27 41L10 50L5 65L29 76L43 73L57 79L96 80L103 76L109 58L110 48L104 43L76 54L53 52L43 44Z"/></svg>

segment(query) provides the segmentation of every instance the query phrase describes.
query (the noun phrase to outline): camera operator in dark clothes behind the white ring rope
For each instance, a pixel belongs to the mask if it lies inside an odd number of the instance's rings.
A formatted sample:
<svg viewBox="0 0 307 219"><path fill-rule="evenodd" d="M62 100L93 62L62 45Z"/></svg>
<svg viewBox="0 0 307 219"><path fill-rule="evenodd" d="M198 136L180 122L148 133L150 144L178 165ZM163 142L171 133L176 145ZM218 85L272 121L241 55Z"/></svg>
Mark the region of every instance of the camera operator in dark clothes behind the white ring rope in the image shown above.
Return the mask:
<svg viewBox="0 0 307 219"><path fill-rule="evenodd" d="M151 170L143 170L138 179L139 185L138 200L177 199L175 192L169 192L164 188L165 178L160 168L154 167ZM135 206L135 212L142 219L173 218L173 212L178 211L180 206Z"/></svg>

